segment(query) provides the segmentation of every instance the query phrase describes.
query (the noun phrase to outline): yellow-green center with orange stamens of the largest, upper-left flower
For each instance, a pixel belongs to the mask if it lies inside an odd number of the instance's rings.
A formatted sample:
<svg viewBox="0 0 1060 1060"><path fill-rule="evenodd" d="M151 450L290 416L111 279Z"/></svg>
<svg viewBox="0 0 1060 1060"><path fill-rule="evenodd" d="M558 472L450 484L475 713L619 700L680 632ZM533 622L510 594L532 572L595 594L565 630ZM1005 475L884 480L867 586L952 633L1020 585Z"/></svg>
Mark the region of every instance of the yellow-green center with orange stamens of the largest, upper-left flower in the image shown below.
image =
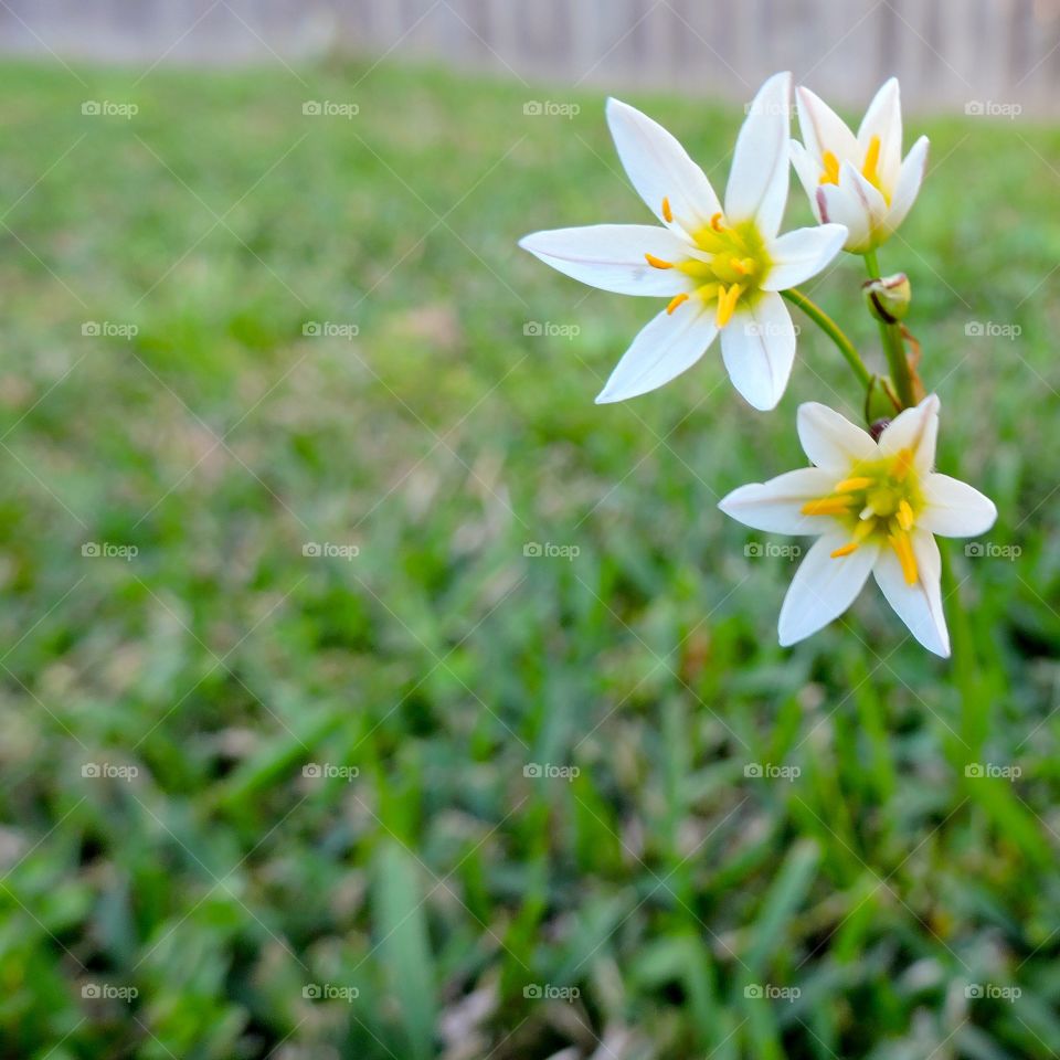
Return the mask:
<svg viewBox="0 0 1060 1060"><path fill-rule="evenodd" d="M672 216L666 199L662 200L662 215ZM759 293L773 263L753 221L728 225L722 215L716 213L710 224L691 235L699 250L710 255L709 261L664 262L654 254L645 254L645 259L654 268L678 268L690 276L697 283L695 297L717 307L718 327L723 328L732 319L740 299L746 303ZM691 297L686 293L678 295L667 307L667 312L674 312Z"/></svg>

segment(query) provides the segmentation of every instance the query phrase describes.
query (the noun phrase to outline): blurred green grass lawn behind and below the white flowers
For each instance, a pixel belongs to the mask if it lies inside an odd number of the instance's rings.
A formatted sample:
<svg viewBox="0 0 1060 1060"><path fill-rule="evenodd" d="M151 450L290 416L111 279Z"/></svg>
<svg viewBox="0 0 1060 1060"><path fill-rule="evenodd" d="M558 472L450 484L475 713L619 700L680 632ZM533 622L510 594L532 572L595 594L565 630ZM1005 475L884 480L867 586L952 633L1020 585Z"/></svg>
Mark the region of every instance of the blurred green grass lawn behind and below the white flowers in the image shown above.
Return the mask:
<svg viewBox="0 0 1060 1060"><path fill-rule="evenodd" d="M962 696L875 590L781 650L793 566L714 507L794 466L799 401L857 416L816 335L775 415L717 351L593 404L657 307L515 242L647 219L600 95L77 76L0 71L0 1057L1060 1053L1057 130L910 121L882 254L941 466L1021 550L955 553ZM723 184L739 108L633 102ZM857 266L817 297L878 364Z"/></svg>

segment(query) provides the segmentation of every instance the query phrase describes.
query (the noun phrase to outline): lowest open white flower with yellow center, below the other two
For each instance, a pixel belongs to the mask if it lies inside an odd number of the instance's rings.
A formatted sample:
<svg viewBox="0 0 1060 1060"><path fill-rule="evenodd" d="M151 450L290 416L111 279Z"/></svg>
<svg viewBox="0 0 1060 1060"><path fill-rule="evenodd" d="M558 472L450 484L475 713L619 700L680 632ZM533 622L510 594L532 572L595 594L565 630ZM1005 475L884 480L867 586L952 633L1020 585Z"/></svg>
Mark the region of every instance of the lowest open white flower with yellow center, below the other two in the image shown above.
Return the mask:
<svg viewBox="0 0 1060 1060"><path fill-rule="evenodd" d="M741 486L718 506L757 530L820 534L781 608L783 646L841 615L871 571L913 636L936 655L950 654L934 534L984 533L997 509L932 469L937 432L934 394L895 416L878 443L825 405L801 405L798 437L814 467Z"/></svg>

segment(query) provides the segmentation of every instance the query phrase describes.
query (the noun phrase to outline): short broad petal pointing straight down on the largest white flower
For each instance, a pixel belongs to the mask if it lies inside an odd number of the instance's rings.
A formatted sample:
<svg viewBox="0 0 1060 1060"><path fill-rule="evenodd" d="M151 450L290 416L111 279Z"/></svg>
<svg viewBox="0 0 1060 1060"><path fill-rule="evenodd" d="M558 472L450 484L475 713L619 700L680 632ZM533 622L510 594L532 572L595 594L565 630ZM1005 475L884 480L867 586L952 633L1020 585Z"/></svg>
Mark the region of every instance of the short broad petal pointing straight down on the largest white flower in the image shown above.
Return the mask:
<svg viewBox="0 0 1060 1060"><path fill-rule="evenodd" d="M739 309L721 332L721 357L749 404L762 412L775 409L795 361L795 326L784 299L767 290Z"/></svg>

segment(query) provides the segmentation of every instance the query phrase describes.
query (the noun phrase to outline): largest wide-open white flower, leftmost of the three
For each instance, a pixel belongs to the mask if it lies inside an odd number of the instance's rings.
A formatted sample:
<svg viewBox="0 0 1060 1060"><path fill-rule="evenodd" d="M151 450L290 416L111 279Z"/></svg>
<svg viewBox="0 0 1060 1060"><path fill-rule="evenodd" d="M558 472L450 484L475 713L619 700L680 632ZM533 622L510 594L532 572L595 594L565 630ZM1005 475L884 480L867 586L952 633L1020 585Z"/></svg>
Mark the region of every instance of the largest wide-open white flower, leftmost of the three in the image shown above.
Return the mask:
<svg viewBox="0 0 1060 1060"><path fill-rule="evenodd" d="M781 400L795 358L795 329L778 292L819 273L847 235L838 224L777 235L787 203L789 98L789 74L776 74L759 91L736 140L724 208L666 129L610 99L618 156L662 227L600 224L520 241L582 283L670 299L618 362L598 403L669 382L703 356L719 331L736 390L755 409Z"/></svg>

